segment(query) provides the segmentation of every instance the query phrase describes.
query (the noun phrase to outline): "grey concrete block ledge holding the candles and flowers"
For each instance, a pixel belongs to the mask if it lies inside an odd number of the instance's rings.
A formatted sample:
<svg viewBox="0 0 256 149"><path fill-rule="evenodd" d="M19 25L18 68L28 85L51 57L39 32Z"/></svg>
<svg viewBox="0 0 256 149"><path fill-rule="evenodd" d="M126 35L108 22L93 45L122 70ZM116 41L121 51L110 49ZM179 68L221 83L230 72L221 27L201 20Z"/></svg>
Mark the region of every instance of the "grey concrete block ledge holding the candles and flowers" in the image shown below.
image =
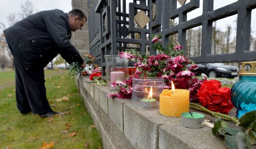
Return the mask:
<svg viewBox="0 0 256 149"><path fill-rule="evenodd" d="M135 109L130 99L107 98L111 93L107 86L88 83L88 77L76 81L94 125L101 131L105 149L226 148L224 140L214 136L207 126L185 128L181 118L163 116L158 107Z"/></svg>

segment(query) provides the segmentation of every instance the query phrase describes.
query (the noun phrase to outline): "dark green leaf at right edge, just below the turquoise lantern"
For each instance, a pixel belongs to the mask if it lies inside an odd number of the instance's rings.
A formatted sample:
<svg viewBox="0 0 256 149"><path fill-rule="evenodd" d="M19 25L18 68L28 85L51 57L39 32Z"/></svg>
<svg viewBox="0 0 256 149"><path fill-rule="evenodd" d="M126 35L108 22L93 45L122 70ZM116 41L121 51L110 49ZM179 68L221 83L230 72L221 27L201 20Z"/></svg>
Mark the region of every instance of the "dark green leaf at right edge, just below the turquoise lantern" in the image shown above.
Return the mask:
<svg viewBox="0 0 256 149"><path fill-rule="evenodd" d="M256 121L256 110L245 113L240 119L239 119L239 126L247 127L252 122Z"/></svg>

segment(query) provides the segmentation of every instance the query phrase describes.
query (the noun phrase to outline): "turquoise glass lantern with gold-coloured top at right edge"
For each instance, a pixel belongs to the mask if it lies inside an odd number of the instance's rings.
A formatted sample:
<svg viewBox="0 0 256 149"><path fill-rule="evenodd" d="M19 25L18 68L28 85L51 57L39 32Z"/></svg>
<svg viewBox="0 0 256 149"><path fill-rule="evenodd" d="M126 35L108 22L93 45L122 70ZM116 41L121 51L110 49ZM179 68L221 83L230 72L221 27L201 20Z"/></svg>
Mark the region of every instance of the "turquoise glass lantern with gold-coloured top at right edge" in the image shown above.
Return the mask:
<svg viewBox="0 0 256 149"><path fill-rule="evenodd" d="M231 88L231 101L236 117L256 110L256 62L241 62L239 80Z"/></svg>

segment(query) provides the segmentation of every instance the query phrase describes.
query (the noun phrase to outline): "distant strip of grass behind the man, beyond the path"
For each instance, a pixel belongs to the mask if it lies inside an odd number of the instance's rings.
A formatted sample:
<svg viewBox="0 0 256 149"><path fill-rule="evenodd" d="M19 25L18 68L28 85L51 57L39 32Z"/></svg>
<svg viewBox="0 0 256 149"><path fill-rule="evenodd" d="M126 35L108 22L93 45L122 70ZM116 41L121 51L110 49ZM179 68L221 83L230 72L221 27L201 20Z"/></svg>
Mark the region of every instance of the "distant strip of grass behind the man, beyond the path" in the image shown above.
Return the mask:
<svg viewBox="0 0 256 149"><path fill-rule="evenodd" d="M45 76L55 74L55 73L61 73L66 72L67 70L60 70L60 69L47 69L45 70ZM11 71L0 71L0 86L2 85L8 85L15 83L15 72L13 70Z"/></svg>

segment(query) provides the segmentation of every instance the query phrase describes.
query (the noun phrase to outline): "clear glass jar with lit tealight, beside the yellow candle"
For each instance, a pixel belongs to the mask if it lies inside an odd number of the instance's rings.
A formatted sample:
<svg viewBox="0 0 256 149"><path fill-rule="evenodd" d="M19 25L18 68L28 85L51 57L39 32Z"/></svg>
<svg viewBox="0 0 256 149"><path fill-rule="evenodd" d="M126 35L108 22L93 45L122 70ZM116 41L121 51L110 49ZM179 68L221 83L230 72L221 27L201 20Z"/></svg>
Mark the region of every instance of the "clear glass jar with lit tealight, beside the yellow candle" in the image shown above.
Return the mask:
<svg viewBox="0 0 256 149"><path fill-rule="evenodd" d="M152 87L152 97L149 97L150 89ZM150 106L149 99L155 99L159 102L160 93L164 88L164 80L162 77L155 78L133 78L133 93L131 99L131 106L139 109L141 107ZM143 100L147 100L143 102ZM141 101L142 100L142 101ZM147 104L147 105L145 105Z"/></svg>

